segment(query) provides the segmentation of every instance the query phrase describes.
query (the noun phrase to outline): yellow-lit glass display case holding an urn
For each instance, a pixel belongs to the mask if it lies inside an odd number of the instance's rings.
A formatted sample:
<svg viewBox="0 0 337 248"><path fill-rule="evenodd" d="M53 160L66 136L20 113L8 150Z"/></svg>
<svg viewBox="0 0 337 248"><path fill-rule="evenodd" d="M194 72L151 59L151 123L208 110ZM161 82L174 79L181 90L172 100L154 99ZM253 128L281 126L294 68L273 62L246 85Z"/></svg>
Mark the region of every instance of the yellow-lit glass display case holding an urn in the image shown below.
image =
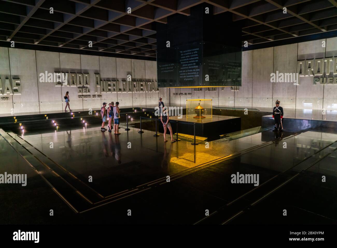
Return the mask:
<svg viewBox="0 0 337 248"><path fill-rule="evenodd" d="M212 107L212 99L187 99L187 118L192 118L196 120L212 118Z"/></svg>

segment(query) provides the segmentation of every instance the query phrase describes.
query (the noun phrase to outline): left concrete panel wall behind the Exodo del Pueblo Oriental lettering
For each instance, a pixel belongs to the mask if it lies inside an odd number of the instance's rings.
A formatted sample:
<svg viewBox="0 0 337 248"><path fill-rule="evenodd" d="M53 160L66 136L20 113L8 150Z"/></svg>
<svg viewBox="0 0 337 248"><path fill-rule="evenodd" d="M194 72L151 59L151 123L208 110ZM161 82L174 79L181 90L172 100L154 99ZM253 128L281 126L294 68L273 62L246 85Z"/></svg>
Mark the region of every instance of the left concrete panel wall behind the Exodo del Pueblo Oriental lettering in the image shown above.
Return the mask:
<svg viewBox="0 0 337 248"><path fill-rule="evenodd" d="M20 95L0 95L0 116L64 112L63 96L67 91L72 110L99 109L103 101L119 101L120 106L150 106L157 105L159 95L164 99L169 97L169 89L155 89L151 92L118 92L117 89L117 92L102 93L101 87L96 88L95 73L99 73L100 79L112 82L126 81L128 74L131 74L132 81L156 82L157 63L155 61L3 47L0 47L0 58L2 85L5 85L6 77L10 83L13 82L14 77L20 78L21 86ZM55 86L54 81L41 82L39 75L45 71L89 73L90 93L79 94L78 87L70 84ZM83 95L91 95L91 97L79 97Z"/></svg>

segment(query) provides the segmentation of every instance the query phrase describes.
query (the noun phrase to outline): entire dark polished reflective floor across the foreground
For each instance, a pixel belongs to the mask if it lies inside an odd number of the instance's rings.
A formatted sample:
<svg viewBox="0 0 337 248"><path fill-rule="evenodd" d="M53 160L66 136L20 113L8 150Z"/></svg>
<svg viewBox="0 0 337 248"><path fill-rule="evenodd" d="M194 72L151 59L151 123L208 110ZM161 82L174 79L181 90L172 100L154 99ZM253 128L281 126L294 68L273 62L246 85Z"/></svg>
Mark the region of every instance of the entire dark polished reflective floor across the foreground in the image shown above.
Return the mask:
<svg viewBox="0 0 337 248"><path fill-rule="evenodd" d="M0 184L0 207L11 209L0 223L336 223L333 129L197 146L138 131L0 130L1 173L28 178L25 187ZM238 172L258 174L259 185L232 183ZM283 209L296 217L282 219Z"/></svg>

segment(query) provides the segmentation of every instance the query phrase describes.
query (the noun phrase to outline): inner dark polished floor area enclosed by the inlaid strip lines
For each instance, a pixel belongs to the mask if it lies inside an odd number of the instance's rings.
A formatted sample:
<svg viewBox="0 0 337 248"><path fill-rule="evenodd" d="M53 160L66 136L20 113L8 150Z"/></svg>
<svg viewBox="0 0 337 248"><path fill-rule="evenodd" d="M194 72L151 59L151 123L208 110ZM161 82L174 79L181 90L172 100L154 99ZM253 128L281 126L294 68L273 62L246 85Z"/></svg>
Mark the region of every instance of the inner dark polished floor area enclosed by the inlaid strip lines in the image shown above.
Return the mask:
<svg viewBox="0 0 337 248"><path fill-rule="evenodd" d="M187 141L165 143L162 134L154 137L151 131L138 131L121 128L121 134L115 135L88 127L42 134L26 131L21 138L85 184L92 176L90 186L104 197L264 143L259 133L240 142L218 140L193 146ZM274 138L274 133L269 135Z"/></svg>

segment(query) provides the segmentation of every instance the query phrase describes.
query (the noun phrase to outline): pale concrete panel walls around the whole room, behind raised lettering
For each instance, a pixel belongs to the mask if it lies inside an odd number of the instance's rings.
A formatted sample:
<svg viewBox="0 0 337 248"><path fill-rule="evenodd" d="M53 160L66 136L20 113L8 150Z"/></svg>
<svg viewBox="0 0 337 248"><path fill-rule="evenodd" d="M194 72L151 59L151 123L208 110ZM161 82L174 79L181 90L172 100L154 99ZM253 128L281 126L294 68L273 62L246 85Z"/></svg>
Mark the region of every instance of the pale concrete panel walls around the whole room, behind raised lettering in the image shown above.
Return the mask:
<svg viewBox="0 0 337 248"><path fill-rule="evenodd" d="M326 46L322 46L322 41ZM63 96L69 91L70 106L74 110L95 109L103 101L119 101L121 106L157 105L162 97L165 106L185 106L186 99L212 99L213 106L268 107L275 101L287 109L337 111L337 85L313 84L310 76L300 77L299 85L271 83L271 73L296 73L297 60L337 56L337 37L244 51L242 53L242 86L239 90L221 88L159 88L155 92L102 93L101 98L79 98L77 87L55 87L54 83L40 83L39 73L54 71L90 74L90 91L96 91L94 73L101 79L126 81L157 81L155 61L55 53L14 48L0 48L0 78L20 77L21 95L0 101L0 115L64 111ZM337 76L335 74L334 76ZM117 85L118 88L118 85Z"/></svg>

